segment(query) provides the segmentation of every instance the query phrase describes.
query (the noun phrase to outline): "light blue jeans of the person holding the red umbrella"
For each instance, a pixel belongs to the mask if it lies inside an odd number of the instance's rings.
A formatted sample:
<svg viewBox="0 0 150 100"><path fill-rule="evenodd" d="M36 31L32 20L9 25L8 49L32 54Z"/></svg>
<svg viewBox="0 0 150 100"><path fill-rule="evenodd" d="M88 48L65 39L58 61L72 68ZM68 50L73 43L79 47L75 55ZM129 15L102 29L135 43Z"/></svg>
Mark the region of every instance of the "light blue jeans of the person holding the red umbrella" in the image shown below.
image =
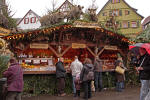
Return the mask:
<svg viewBox="0 0 150 100"><path fill-rule="evenodd" d="M150 90L150 80L141 80L140 100L145 100Z"/></svg>

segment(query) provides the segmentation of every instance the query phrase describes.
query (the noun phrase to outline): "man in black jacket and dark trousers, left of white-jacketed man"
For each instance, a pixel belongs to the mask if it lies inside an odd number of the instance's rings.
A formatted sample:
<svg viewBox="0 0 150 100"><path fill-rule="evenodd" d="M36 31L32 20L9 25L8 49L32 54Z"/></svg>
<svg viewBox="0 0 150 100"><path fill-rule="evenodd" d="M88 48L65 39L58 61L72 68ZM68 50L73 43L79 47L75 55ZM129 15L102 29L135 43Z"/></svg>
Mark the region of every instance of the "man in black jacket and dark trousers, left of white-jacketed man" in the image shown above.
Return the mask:
<svg viewBox="0 0 150 100"><path fill-rule="evenodd" d="M58 95L59 96L66 95L66 93L64 92L66 70L64 68L63 62L64 62L64 58L60 57L59 61L56 63L56 78L57 78Z"/></svg>

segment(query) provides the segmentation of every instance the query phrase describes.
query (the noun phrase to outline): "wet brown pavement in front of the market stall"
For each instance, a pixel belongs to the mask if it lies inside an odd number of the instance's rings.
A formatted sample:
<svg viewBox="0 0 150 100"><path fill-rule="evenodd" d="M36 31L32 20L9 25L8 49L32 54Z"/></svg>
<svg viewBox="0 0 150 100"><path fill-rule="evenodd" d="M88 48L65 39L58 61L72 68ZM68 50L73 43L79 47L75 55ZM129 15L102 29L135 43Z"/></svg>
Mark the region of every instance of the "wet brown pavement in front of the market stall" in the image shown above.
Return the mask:
<svg viewBox="0 0 150 100"><path fill-rule="evenodd" d="M139 100L140 87L128 87L123 92L116 92L114 89L102 92L93 92L93 96L89 100ZM23 97L23 100L83 100L83 93L80 98L74 98L71 95L64 97L41 95L35 97Z"/></svg>

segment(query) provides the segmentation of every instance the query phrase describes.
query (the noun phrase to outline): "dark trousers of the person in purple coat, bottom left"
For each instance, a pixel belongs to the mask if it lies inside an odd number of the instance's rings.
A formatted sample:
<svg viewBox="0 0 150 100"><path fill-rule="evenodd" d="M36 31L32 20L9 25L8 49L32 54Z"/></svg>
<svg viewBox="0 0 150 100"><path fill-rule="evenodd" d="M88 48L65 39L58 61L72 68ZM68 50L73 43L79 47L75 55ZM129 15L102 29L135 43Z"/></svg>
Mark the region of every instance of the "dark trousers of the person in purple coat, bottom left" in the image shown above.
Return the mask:
<svg viewBox="0 0 150 100"><path fill-rule="evenodd" d="M6 100L21 100L21 93L8 91Z"/></svg>

